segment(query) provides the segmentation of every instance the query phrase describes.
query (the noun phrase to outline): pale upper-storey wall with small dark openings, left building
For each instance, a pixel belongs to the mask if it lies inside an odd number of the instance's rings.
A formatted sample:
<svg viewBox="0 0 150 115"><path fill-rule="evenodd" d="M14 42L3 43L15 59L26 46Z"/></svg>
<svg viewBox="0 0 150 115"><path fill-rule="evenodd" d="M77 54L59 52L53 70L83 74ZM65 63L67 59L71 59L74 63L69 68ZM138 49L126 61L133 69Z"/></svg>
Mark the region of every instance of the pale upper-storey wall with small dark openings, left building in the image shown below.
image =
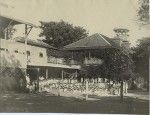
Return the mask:
<svg viewBox="0 0 150 115"><path fill-rule="evenodd" d="M28 45L27 48L25 44L10 41L10 40L0 40L1 56L5 56L6 60L10 61L10 58L14 58L20 63L20 67L25 68L26 64L36 65L47 63L46 48ZM26 51L28 55L26 56ZM26 61L28 60L28 61Z"/></svg>

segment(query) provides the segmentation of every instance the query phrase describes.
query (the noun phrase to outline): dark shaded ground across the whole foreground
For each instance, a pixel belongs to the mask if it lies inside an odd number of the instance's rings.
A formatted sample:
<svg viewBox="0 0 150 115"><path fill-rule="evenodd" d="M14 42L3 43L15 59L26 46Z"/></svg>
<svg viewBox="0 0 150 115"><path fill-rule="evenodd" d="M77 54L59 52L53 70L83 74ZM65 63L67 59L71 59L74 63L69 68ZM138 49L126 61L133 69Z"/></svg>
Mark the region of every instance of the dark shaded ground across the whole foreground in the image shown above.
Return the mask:
<svg viewBox="0 0 150 115"><path fill-rule="evenodd" d="M62 97L52 94L25 94L6 92L0 94L0 112L44 113L112 113L148 114L149 100L125 96L124 102L116 96L89 96L96 100Z"/></svg>

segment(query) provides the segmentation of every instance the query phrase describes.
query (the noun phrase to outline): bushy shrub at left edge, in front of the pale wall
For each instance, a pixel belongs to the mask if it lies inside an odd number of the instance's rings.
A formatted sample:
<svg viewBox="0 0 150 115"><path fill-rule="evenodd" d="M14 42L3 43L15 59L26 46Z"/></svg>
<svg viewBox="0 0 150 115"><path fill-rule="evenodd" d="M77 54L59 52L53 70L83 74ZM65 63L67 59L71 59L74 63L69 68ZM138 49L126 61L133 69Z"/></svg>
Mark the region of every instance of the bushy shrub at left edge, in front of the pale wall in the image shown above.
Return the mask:
<svg viewBox="0 0 150 115"><path fill-rule="evenodd" d="M0 56L0 92L25 91L25 69L19 68L14 60Z"/></svg>

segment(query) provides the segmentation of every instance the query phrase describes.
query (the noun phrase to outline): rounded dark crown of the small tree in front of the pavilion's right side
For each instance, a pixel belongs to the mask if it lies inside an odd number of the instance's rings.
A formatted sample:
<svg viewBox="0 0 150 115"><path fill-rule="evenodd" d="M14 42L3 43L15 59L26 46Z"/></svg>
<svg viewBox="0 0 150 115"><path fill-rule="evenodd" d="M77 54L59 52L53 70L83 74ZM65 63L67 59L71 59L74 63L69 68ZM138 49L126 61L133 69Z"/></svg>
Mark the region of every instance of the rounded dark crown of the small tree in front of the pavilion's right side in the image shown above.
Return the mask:
<svg viewBox="0 0 150 115"><path fill-rule="evenodd" d="M107 54L108 58L105 62L110 78L121 80L133 76L134 65L130 54L125 53L124 49L110 49Z"/></svg>

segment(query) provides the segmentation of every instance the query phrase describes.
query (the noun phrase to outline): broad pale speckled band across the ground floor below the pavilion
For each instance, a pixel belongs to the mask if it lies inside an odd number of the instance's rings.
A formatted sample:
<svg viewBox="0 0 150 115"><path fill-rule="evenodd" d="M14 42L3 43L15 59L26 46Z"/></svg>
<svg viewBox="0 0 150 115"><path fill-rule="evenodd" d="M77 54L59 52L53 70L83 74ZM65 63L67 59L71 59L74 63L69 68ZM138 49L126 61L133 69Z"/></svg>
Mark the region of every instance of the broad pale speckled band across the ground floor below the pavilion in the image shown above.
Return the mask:
<svg viewBox="0 0 150 115"><path fill-rule="evenodd" d="M64 72L65 73L65 72ZM39 81L39 91L50 92L56 95L61 93L70 94L91 94L99 96L119 95L120 83L110 81L106 78L81 78L81 81L76 77L76 73L70 75L69 78L49 78ZM127 93L127 83L124 82L124 94Z"/></svg>

